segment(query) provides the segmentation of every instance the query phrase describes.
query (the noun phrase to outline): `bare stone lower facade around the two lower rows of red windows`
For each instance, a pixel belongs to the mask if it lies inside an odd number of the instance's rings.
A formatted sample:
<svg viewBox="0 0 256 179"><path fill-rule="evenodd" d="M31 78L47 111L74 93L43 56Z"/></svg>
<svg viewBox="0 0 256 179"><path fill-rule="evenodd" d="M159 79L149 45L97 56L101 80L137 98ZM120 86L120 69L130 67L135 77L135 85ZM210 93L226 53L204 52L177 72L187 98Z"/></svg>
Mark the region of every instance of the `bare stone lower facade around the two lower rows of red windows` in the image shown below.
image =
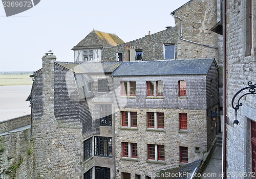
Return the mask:
<svg viewBox="0 0 256 179"><path fill-rule="evenodd" d="M180 165L180 146L188 147L188 162L201 159L207 151L206 139L206 110L182 110L182 109L147 109L125 108L116 113L116 176L121 177L121 172L135 174L141 178L148 176L148 172L157 172ZM137 127L124 129L122 127L122 111L137 112ZM148 130L147 112L164 113L164 129ZM187 131L179 130L179 113L187 113ZM122 142L137 143L137 160L127 160L122 157ZM148 162L147 144L164 145L165 160ZM200 148L200 152L195 151Z"/></svg>

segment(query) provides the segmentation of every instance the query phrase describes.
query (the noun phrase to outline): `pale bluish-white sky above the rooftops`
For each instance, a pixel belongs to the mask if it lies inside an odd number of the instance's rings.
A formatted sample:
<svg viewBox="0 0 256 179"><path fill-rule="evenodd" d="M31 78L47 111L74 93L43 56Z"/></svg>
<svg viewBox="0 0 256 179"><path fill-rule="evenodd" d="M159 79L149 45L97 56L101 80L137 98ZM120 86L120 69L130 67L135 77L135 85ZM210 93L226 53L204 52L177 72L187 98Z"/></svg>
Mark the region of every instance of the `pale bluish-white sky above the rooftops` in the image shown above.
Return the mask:
<svg viewBox="0 0 256 179"><path fill-rule="evenodd" d="M57 61L73 61L71 48L93 29L115 33L124 42L175 26L170 12L189 0L41 0L6 17L0 8L0 71L36 71L53 49Z"/></svg>

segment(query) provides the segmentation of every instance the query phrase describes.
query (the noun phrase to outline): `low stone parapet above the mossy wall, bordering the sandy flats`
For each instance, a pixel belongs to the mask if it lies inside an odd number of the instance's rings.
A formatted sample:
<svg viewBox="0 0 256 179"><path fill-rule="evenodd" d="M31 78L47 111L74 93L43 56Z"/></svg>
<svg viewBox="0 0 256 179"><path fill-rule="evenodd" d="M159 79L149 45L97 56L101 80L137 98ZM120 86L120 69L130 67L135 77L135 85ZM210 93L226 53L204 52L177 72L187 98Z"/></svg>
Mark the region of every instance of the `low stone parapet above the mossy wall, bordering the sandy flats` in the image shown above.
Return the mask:
<svg viewBox="0 0 256 179"><path fill-rule="evenodd" d="M0 134L30 125L31 115L25 115L0 122Z"/></svg>

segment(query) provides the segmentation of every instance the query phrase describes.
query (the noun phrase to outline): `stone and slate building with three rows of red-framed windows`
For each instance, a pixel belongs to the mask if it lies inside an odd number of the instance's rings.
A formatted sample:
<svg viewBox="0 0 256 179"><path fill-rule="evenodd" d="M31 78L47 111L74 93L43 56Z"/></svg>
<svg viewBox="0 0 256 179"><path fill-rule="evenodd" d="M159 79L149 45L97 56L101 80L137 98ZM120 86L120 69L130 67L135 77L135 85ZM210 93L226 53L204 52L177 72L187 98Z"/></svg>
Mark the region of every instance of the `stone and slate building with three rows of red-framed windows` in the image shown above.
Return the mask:
<svg viewBox="0 0 256 179"><path fill-rule="evenodd" d="M148 178L203 157L218 133L218 70L214 59L161 60L124 62L111 74L116 178Z"/></svg>

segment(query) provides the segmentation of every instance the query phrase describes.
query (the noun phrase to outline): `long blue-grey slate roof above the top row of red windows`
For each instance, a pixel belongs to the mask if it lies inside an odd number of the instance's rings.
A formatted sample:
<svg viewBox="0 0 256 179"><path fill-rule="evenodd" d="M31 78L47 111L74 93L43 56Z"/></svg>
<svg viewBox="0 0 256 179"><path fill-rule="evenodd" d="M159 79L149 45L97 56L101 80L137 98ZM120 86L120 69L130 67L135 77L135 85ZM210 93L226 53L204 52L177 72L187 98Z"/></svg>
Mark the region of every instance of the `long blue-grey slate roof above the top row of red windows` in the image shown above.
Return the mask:
<svg viewBox="0 0 256 179"><path fill-rule="evenodd" d="M213 62L215 59L124 62L111 76L207 74Z"/></svg>

